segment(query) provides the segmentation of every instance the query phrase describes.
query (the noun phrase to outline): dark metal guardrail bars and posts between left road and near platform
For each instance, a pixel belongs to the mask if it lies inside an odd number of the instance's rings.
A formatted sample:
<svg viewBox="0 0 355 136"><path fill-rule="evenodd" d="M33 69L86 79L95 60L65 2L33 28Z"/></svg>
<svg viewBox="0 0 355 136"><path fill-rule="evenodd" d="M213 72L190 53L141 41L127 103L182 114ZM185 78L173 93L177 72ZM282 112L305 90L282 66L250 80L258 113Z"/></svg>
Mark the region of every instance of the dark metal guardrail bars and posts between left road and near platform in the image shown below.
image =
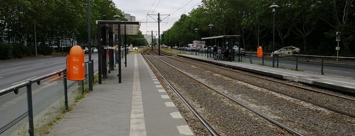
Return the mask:
<svg viewBox="0 0 355 136"><path fill-rule="evenodd" d="M91 60L93 62L93 60ZM85 66L88 66L88 61L85 62ZM87 77L87 72L88 70L85 68L85 77ZM64 91L64 105L65 105L65 110L69 109L68 106L68 88L74 86L77 83L81 83L81 88L82 88L82 93L84 93L84 80L82 81L75 81L72 84L68 85L67 84L67 69L62 69L59 70L57 72L53 72L35 79L31 79L31 80L26 80L22 83L16 84L14 86L5 88L0 90L0 96L6 95L6 94L10 94L10 93L15 93L18 94L19 90L22 88L26 88L26 94L27 94L27 109L28 111L21 114L20 116L18 116L16 119L12 120L11 122L7 123L5 126L0 126L0 134L4 133L6 130L8 130L9 128L11 128L12 126L14 126L15 124L17 124L18 122L20 122L22 119L24 119L25 117L28 117L28 133L29 135L35 135L35 126L34 126L34 107L33 107L33 89L32 89L32 85L37 83L38 85L41 84L41 81L49 79L51 77L55 77L55 76L63 76L63 91ZM86 78L85 78L86 79Z"/></svg>

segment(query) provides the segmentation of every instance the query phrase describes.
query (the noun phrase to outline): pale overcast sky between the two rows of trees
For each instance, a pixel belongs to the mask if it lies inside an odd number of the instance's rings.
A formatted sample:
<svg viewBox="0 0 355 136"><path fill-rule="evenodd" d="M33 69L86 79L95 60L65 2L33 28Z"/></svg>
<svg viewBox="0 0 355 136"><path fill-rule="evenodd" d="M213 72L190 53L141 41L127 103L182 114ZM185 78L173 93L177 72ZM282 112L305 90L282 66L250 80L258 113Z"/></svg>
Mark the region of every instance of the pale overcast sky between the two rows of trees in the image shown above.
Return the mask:
<svg viewBox="0 0 355 136"><path fill-rule="evenodd" d="M136 17L141 22L143 35L157 35L157 14L160 13L160 35L180 19L182 14L188 15L192 9L201 5L201 0L112 0L117 9ZM148 16L147 14L151 14ZM149 32L147 32L149 31Z"/></svg>

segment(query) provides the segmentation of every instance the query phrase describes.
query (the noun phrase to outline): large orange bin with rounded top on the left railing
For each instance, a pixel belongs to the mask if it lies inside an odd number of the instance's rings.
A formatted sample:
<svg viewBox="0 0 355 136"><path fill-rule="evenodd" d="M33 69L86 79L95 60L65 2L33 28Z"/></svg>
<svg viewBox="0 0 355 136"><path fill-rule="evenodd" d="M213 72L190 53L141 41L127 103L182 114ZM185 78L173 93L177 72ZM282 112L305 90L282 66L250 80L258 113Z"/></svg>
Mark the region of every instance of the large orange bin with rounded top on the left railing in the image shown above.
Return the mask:
<svg viewBox="0 0 355 136"><path fill-rule="evenodd" d="M73 81L85 79L85 53L80 46L73 46L67 55L67 79Z"/></svg>

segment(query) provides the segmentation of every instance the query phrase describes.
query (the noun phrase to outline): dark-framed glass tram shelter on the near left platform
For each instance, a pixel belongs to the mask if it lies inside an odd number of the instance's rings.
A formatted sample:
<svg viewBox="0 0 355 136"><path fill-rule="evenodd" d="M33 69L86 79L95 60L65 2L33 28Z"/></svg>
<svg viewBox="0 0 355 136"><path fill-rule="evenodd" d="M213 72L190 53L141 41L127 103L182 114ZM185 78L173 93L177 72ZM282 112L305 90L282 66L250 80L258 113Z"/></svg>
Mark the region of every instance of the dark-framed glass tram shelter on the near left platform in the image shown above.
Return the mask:
<svg viewBox="0 0 355 136"><path fill-rule="evenodd" d="M98 55L99 55L99 84L102 78L107 78L107 73L114 70L115 45L119 46L120 59L118 60L118 83L122 83L121 79L121 58L125 55L125 66L127 66L127 35L137 35L140 22L136 21L108 21L96 20L98 25ZM125 48L124 54L121 54L121 46ZM109 66L109 67L108 67Z"/></svg>

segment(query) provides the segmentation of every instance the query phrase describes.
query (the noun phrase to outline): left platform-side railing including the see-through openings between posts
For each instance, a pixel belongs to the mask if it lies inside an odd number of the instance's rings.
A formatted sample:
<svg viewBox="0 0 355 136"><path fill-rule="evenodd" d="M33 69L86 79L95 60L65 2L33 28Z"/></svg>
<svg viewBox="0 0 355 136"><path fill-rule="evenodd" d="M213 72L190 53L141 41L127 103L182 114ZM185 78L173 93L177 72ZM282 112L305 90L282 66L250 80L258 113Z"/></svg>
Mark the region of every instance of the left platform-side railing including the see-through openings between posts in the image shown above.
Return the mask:
<svg viewBox="0 0 355 136"><path fill-rule="evenodd" d="M85 62L85 77L87 74L88 62ZM0 135L40 135L44 126L75 103L76 97L84 92L84 85L88 86L87 79L67 81L67 70L62 69L0 90ZM60 80L62 84L57 82ZM26 117L28 122L24 120Z"/></svg>

